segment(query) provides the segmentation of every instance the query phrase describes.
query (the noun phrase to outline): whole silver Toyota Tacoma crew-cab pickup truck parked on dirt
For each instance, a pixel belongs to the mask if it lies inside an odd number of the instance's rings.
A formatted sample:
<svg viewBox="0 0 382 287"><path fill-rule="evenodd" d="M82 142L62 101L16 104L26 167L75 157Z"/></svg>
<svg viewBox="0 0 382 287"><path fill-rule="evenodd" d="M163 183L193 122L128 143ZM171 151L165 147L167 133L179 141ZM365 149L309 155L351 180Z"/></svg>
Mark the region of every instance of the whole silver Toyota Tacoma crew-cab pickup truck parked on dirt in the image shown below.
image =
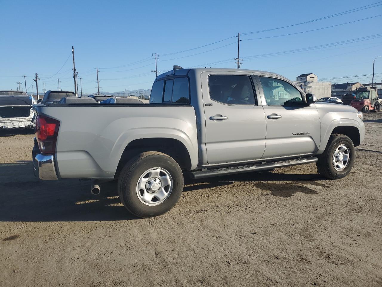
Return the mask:
<svg viewBox="0 0 382 287"><path fill-rule="evenodd" d="M118 180L131 213L170 210L183 176L271 170L316 162L346 176L364 139L362 113L316 103L270 72L181 68L159 75L149 104L36 104L34 171L40 179Z"/></svg>

